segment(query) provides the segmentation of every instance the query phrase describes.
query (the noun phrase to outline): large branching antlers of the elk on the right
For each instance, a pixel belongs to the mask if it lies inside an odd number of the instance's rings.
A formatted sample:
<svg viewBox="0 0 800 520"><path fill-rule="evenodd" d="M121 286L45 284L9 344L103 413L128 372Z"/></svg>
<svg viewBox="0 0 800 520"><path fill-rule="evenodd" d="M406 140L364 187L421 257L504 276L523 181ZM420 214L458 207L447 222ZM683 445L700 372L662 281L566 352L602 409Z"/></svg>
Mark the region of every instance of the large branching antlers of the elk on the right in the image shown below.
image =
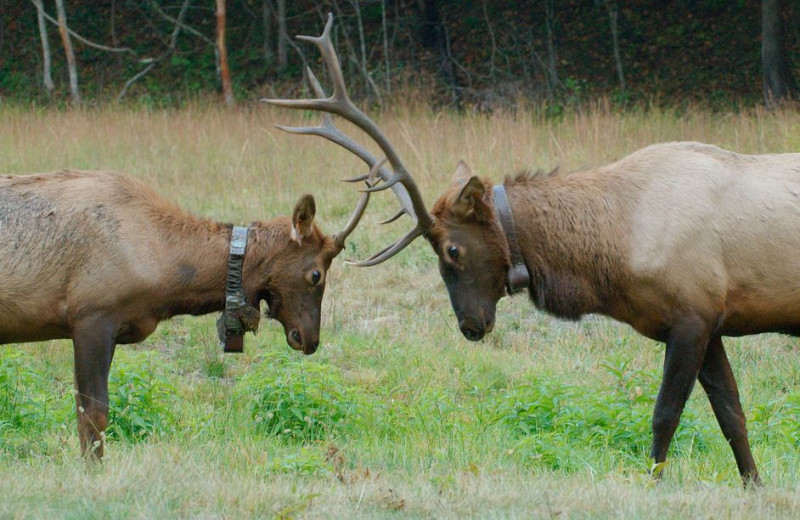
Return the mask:
<svg viewBox="0 0 800 520"><path fill-rule="evenodd" d="M333 43L331 42L332 26L333 14L329 13L328 21L325 24L325 30L322 32L321 36L297 36L297 39L311 42L319 49L333 82L333 94L330 97L325 97L325 94L320 87L316 76L314 76L314 73L310 68L308 68L308 75L314 88L314 92L318 96L317 99L266 99L264 101L286 108L316 110L323 112L323 122L319 126L286 127L278 125L278 128L295 134L318 135L354 153L356 156L361 158L361 160L370 165L370 175L377 174L381 180L384 181L384 184L378 186L369 186L368 183L368 187L363 191L366 194L369 194L375 191L391 188L400 200L400 211L381 223L384 224L393 222L397 218L401 217L404 213L409 215L415 221L414 228L394 244L384 248L367 260L350 262L354 265L362 267L376 265L388 260L398 252L402 251L418 236L427 235L433 226L433 219L428 213L428 210L425 208L425 203L422 200L422 194L420 193L419 188L417 188L414 179L408 173L408 170L406 170L406 167L403 165L397 152L395 152L394 148L389 143L389 140L386 138L383 132L381 132L375 122L367 117L367 115L364 114L364 112L362 112L357 106L355 106L350 97L347 95L347 87L344 82L344 76L342 74L339 58L336 55L336 50L333 48ZM330 114L337 114L366 132L366 134L381 148L386 156L384 160L389 161L394 173L388 171L382 166L384 161L381 161L381 163L378 164L378 160L363 146L356 143L336 129L331 122ZM357 177L351 180L359 181L364 179L364 177ZM360 205L361 201L359 201L359 207ZM364 206L366 206L366 203L364 203ZM355 224L352 227L354 228ZM348 224L348 229L352 231L350 228L351 226Z"/></svg>

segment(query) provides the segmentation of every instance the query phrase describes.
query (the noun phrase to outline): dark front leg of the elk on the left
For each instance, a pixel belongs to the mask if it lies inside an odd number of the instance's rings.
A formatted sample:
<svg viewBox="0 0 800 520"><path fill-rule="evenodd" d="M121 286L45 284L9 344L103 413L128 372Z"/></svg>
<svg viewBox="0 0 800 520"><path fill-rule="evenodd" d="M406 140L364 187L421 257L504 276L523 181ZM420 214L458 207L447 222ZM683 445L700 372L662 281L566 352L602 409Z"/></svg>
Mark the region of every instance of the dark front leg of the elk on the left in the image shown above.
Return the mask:
<svg viewBox="0 0 800 520"><path fill-rule="evenodd" d="M103 457L103 435L108 425L108 371L115 348L113 326L99 321L76 326L72 338L81 453L94 459Z"/></svg>

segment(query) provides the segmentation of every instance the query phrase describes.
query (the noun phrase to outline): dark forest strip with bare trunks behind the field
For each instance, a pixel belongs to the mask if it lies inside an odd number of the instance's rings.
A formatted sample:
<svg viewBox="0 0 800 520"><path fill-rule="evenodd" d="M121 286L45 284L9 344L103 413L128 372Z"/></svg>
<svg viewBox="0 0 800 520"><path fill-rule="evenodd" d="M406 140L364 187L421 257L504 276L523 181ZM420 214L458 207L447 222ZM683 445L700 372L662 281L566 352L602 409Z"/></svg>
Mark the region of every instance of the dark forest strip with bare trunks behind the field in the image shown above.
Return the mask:
<svg viewBox="0 0 800 520"><path fill-rule="evenodd" d="M0 0L0 97L297 94L318 58L293 36L319 34L328 12L353 97L373 104L559 113L598 96L711 108L796 97L800 5L785 0Z"/></svg>

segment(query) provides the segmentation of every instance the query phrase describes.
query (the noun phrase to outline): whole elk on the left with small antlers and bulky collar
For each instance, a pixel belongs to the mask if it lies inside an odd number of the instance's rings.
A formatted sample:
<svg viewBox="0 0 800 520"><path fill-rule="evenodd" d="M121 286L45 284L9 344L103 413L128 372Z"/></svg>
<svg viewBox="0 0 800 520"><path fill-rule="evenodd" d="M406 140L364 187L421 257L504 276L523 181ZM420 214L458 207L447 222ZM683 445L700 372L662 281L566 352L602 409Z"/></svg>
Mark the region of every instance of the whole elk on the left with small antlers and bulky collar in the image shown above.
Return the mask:
<svg viewBox="0 0 800 520"><path fill-rule="evenodd" d="M326 274L368 196L329 236L314 223L311 195L291 218L238 228L195 217L122 173L0 176L0 344L72 339L81 451L99 459L115 347L162 320L224 310L221 339L241 350L265 301L288 344L313 354Z"/></svg>

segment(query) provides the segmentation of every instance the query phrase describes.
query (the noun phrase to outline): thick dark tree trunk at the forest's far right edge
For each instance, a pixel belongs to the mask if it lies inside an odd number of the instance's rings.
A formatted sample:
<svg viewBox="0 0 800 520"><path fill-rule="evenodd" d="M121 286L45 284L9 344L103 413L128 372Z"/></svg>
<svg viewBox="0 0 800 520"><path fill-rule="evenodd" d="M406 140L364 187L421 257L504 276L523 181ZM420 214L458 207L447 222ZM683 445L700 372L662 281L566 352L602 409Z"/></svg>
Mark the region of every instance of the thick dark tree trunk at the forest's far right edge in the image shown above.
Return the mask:
<svg viewBox="0 0 800 520"><path fill-rule="evenodd" d="M783 0L761 1L761 68L764 102L769 108L774 108L797 94L797 85L783 39L783 4Z"/></svg>

